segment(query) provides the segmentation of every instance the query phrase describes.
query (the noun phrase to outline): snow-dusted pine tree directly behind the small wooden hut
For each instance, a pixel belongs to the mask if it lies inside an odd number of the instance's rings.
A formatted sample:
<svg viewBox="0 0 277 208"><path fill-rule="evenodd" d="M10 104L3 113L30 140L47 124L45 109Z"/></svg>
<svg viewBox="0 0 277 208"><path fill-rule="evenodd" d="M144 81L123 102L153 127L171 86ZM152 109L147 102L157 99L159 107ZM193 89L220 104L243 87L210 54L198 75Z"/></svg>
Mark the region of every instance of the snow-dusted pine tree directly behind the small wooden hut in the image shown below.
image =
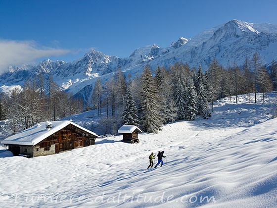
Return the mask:
<svg viewBox="0 0 277 208"><path fill-rule="evenodd" d="M127 88L126 97L124 100L124 110L122 113L122 123L124 125L139 126L138 109L132 96L130 86Z"/></svg>

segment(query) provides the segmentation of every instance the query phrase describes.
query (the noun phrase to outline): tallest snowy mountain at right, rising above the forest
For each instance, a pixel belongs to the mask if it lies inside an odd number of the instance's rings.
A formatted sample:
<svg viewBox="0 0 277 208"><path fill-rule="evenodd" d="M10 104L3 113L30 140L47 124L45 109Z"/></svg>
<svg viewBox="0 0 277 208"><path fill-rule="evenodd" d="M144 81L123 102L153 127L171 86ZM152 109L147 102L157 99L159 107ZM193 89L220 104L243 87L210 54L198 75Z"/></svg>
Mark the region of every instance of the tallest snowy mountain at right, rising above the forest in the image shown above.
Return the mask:
<svg viewBox="0 0 277 208"><path fill-rule="evenodd" d="M252 58L255 52L259 53L264 64L268 64L277 59L276 48L276 26L232 20L223 26L204 31L185 46L162 59L156 59L151 65L168 66L174 61L182 61L195 67L201 64L205 70L214 58L224 66L233 63L242 65L245 56Z"/></svg>

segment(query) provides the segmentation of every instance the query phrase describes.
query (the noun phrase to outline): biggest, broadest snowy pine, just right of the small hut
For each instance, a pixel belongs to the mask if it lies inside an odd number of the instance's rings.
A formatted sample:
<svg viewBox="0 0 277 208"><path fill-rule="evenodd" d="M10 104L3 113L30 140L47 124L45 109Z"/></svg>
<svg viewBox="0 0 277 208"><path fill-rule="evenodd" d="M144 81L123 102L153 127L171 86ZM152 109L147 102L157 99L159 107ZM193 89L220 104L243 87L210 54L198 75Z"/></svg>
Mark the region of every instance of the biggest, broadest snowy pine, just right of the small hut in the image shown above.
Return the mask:
<svg viewBox="0 0 277 208"><path fill-rule="evenodd" d="M145 132L157 133L162 126L157 89L149 65L145 66L140 76L140 117L141 128Z"/></svg>

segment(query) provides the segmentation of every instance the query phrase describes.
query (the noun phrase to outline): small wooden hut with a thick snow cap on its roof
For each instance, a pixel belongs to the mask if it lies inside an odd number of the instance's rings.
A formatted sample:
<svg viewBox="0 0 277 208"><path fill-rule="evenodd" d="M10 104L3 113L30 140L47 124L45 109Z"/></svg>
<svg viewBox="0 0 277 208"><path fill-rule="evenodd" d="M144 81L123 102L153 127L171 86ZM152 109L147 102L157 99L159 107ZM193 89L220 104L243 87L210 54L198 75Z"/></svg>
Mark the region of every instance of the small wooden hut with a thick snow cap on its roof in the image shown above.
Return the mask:
<svg viewBox="0 0 277 208"><path fill-rule="evenodd" d="M134 125L123 125L118 129L119 134L123 134L122 142L139 143L139 133L142 131Z"/></svg>

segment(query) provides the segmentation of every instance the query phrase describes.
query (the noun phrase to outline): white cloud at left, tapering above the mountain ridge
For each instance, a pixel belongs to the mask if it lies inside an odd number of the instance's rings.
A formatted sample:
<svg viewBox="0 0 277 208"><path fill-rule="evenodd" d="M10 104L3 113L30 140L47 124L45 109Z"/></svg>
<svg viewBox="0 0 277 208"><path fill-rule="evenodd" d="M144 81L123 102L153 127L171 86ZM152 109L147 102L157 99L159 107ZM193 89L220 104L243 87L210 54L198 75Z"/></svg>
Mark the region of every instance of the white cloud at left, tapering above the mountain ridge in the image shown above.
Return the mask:
<svg viewBox="0 0 277 208"><path fill-rule="evenodd" d="M69 50L39 46L35 41L0 39L0 73L9 65L34 63L36 59L69 53Z"/></svg>

